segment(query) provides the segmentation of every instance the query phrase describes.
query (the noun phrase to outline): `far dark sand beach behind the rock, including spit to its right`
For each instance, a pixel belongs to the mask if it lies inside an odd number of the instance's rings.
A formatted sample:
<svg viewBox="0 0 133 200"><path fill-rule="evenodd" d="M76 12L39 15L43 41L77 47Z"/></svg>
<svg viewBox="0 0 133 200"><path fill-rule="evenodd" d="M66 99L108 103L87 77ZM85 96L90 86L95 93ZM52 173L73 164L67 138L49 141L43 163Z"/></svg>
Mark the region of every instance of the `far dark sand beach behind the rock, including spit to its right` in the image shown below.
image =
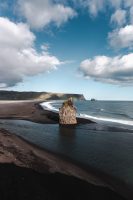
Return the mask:
<svg viewBox="0 0 133 200"><path fill-rule="evenodd" d="M58 113L43 109L44 101L0 101L0 119L22 119L43 124L59 123ZM78 124L95 123L77 117Z"/></svg>

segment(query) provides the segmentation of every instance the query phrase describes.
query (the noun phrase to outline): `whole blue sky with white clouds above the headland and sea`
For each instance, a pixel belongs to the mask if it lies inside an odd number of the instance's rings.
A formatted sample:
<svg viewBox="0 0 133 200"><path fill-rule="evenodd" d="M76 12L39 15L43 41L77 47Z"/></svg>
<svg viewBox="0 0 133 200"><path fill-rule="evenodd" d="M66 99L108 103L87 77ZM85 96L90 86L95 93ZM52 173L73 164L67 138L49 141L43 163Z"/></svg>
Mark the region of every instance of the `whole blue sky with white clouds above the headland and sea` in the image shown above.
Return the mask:
<svg viewBox="0 0 133 200"><path fill-rule="evenodd" d="M0 90L133 100L133 0L1 0Z"/></svg>

